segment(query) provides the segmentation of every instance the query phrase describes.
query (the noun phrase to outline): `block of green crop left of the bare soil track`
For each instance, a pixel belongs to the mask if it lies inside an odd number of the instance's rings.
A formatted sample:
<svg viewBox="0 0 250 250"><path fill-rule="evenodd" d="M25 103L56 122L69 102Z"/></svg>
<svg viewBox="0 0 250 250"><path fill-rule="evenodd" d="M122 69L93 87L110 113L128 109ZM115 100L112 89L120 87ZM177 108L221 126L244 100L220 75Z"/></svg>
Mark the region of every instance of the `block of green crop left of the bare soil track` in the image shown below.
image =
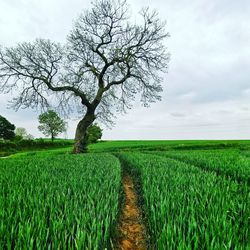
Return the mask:
<svg viewBox="0 0 250 250"><path fill-rule="evenodd" d="M109 154L0 161L1 249L105 249L118 213L120 164Z"/></svg>

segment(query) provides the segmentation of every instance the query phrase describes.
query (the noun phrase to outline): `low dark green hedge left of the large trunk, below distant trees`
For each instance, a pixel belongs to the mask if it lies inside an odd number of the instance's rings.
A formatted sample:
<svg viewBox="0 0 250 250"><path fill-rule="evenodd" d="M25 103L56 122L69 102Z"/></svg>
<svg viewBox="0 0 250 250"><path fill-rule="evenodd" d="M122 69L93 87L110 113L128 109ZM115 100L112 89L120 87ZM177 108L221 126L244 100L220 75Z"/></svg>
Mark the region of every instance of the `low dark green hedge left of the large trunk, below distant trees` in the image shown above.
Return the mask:
<svg viewBox="0 0 250 250"><path fill-rule="evenodd" d="M72 146L73 140L56 139L51 142L47 139L4 141L0 140L0 157L26 150L40 150Z"/></svg>

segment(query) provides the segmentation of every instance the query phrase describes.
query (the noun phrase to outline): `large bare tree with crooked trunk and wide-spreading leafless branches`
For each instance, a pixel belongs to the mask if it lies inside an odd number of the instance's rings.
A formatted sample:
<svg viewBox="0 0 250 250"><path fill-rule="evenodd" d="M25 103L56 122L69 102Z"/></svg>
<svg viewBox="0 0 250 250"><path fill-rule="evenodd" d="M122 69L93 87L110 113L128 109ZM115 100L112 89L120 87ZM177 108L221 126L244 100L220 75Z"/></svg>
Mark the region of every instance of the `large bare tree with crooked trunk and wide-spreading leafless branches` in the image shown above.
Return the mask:
<svg viewBox="0 0 250 250"><path fill-rule="evenodd" d="M148 8L138 23L129 22L126 1L97 0L75 22L67 43L38 39L0 50L1 90L15 89L15 108L58 105L82 115L75 134L75 153L85 151L86 131L96 118L131 107L140 93L148 105L160 100L160 72L168 66L163 44L168 33Z"/></svg>

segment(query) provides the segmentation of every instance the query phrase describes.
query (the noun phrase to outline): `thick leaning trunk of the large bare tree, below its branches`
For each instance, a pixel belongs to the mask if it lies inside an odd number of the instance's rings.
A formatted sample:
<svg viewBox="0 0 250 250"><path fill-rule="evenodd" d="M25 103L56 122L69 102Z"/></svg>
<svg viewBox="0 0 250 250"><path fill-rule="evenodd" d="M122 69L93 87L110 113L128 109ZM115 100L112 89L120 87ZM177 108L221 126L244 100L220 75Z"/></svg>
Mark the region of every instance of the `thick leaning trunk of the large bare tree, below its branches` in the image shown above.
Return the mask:
<svg viewBox="0 0 250 250"><path fill-rule="evenodd" d="M87 129L94 122L95 118L94 111L87 111L84 118L78 123L75 134L75 154L87 151Z"/></svg>

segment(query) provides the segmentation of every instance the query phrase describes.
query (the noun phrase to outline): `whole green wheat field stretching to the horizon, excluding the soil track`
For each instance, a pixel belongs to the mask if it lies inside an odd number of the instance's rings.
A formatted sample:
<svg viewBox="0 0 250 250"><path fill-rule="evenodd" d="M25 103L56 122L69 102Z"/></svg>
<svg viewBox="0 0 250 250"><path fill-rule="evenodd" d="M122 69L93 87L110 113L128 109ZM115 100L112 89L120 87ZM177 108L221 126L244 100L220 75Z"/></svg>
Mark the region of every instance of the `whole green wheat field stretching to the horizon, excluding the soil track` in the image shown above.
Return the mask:
<svg viewBox="0 0 250 250"><path fill-rule="evenodd" d="M107 141L0 159L1 249L113 249L122 172L149 249L250 249L250 141Z"/></svg>

